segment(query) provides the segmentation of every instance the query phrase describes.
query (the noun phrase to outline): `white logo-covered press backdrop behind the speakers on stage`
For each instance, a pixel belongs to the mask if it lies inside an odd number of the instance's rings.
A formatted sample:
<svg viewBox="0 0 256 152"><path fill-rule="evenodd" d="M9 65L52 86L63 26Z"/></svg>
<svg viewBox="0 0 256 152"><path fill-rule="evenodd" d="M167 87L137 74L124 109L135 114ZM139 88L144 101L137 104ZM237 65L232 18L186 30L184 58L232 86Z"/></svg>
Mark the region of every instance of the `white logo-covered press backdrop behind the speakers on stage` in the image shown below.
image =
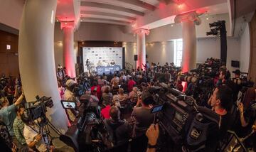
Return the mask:
<svg viewBox="0 0 256 152"><path fill-rule="evenodd" d="M91 71L95 71L98 65L98 62L102 63L105 60L105 63L110 64L112 60L114 60L115 65L119 65L122 67L123 63L123 50L120 47L83 47L82 48L82 56L83 56L83 65L84 72L88 72L88 68L86 66L86 60L90 61ZM102 63L104 64L104 63Z"/></svg>

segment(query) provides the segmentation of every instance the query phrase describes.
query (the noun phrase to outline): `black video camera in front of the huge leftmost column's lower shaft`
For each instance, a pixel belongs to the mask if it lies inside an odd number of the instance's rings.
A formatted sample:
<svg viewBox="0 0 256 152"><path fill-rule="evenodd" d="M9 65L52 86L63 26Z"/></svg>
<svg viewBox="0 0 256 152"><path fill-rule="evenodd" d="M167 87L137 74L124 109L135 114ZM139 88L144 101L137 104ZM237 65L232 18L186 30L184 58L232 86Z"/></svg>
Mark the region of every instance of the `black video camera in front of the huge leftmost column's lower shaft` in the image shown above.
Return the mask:
<svg viewBox="0 0 256 152"><path fill-rule="evenodd" d="M53 100L51 97L39 97L38 95L36 96L36 101L35 102L26 102L25 103L25 109L30 116L32 120L36 120L38 118L41 118L41 126L47 123L46 119L46 107L53 107Z"/></svg>

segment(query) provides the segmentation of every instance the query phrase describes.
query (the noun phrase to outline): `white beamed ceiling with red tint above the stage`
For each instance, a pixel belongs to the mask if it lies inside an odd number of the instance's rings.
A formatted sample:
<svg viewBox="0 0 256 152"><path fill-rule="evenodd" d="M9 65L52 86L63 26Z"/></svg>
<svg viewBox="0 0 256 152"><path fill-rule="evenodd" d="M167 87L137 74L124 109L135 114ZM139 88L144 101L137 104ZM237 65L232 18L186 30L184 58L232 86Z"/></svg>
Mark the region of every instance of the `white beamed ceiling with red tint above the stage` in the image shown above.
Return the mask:
<svg viewBox="0 0 256 152"><path fill-rule="evenodd" d="M216 0L220 1L220 0ZM162 5L174 4L171 0L81 0L81 22L110 23L132 26L137 18L154 12ZM175 5L175 4L174 4ZM209 1L209 6L201 8L208 15L228 13L228 4L216 4ZM146 24L142 28L156 28L174 23L174 16L159 18L158 21Z"/></svg>

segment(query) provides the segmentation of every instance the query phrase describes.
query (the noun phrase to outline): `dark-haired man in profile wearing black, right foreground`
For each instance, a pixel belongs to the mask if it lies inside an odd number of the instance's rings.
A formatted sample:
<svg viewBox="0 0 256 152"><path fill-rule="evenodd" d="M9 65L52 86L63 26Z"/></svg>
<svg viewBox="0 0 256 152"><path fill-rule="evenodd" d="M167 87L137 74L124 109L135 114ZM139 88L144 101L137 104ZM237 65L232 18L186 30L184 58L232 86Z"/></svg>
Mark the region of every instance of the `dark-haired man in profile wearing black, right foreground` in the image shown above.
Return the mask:
<svg viewBox="0 0 256 152"><path fill-rule="evenodd" d="M232 91L228 86L220 85L215 88L213 95L208 100L208 104L213 108L213 111L220 115L220 139L225 137L228 129L233 124L233 116L229 112L230 104L232 104L231 94Z"/></svg>

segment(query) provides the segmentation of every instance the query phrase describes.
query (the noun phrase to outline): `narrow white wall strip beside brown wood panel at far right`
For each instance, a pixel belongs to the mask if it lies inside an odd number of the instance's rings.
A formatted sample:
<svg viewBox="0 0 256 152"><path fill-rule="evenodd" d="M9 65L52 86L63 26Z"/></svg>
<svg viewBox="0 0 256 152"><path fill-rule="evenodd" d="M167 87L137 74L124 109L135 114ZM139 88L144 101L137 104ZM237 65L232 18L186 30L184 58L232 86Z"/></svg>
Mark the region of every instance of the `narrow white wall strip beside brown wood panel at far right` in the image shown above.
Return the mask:
<svg viewBox="0 0 256 152"><path fill-rule="evenodd" d="M249 25L246 24L245 31L240 37L240 71L249 72L250 63L250 31Z"/></svg>

